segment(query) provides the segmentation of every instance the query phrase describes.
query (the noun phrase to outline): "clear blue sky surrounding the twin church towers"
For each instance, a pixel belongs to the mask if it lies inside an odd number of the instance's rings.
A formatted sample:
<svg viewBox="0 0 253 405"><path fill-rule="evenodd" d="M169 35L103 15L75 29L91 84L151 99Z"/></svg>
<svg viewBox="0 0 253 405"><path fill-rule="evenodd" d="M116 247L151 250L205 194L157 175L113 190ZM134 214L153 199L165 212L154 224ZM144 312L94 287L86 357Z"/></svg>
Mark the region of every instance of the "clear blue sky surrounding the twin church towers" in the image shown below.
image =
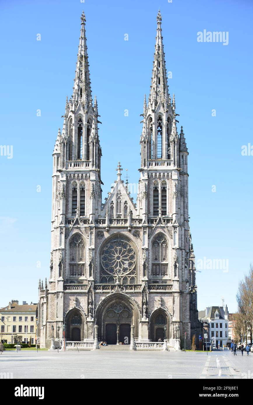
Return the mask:
<svg viewBox="0 0 253 405"><path fill-rule="evenodd" d="M49 276L51 154L72 94L82 10L92 94L103 123L104 198L118 160L130 183L139 179L139 114L149 93L159 7L169 90L189 150L196 262L206 257L229 264L228 272L197 273L198 309L221 305L224 296L229 311L236 310L238 281L253 262L253 156L241 154L242 145L253 145L250 0L2 0L0 144L13 145L13 158L0 156L0 307L11 299L36 302L38 279ZM205 29L229 32L228 45L197 42Z"/></svg>

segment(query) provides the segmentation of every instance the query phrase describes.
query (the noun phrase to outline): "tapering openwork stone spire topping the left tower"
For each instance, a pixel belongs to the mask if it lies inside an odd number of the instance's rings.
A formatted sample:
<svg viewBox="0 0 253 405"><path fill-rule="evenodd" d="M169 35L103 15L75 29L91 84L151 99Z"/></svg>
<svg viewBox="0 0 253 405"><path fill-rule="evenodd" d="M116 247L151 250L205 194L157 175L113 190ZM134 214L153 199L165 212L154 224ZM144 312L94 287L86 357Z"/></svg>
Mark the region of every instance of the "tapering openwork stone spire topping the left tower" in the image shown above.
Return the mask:
<svg viewBox="0 0 253 405"><path fill-rule="evenodd" d="M79 47L77 53L77 64L75 70L75 79L73 87L73 100L90 100L90 71L88 64L88 53L86 45L86 32L85 32L86 18L84 12L81 15L81 33L79 38Z"/></svg>

